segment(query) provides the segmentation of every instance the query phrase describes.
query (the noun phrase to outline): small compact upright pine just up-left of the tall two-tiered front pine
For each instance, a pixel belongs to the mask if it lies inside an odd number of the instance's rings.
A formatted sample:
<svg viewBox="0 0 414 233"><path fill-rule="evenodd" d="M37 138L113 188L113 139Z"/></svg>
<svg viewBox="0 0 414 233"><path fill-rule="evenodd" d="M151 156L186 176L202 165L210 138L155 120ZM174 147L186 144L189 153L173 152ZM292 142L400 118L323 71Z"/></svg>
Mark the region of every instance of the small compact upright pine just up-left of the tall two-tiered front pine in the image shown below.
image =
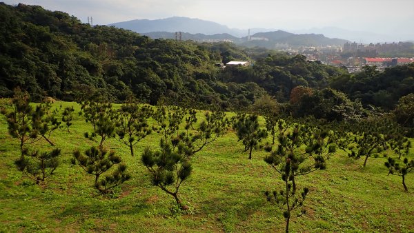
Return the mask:
<svg viewBox="0 0 414 233"><path fill-rule="evenodd" d="M257 115L240 115L233 124L233 129L239 141L242 141L244 151L248 151L248 159L252 159L253 149L257 149L259 142L267 136L266 130L259 127Z"/></svg>

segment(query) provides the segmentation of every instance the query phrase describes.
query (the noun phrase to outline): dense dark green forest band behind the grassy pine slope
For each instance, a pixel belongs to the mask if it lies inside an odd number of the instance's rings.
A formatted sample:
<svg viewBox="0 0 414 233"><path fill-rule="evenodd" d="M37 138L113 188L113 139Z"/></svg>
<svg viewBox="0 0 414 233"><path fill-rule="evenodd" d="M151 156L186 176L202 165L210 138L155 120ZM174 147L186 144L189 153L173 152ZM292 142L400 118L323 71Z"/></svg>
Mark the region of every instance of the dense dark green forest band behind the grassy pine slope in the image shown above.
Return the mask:
<svg viewBox="0 0 414 233"><path fill-rule="evenodd" d="M132 96L151 104L162 99L240 109L267 95L287 103L292 90L304 86L315 93L333 88L364 108L392 110L400 97L414 92L414 65L348 74L302 55L91 27L40 6L0 3L0 30L0 97L12 97L19 87L34 101L99 95L122 102ZM215 67L231 60L253 65Z"/></svg>

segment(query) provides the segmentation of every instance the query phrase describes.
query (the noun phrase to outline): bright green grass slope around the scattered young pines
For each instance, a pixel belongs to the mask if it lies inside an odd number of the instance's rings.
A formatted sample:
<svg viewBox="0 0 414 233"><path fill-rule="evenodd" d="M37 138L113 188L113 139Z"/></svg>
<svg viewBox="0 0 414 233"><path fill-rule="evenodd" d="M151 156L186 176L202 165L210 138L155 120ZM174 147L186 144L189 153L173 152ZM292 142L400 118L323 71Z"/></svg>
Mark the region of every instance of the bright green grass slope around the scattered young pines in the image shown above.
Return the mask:
<svg viewBox="0 0 414 233"><path fill-rule="evenodd" d="M62 150L61 166L41 185L23 177L14 166L19 143L8 135L6 118L0 115L0 232L284 231L282 212L264 195L266 190L282 188L279 175L264 162L266 152L256 151L248 160L231 130L193 157L193 174L179 192L190 210L182 212L170 195L150 184L141 164L144 147L158 147L155 132L138 144L134 157L117 139L106 142L124 159L132 179L114 194L102 196L93 188L94 178L70 163L74 150L97 145L83 138L92 127L77 114L77 103L54 104L55 108L60 105L74 105L75 120L70 133L52 132L52 141ZM199 119L202 116L200 112ZM45 141L30 146L52 148ZM413 151L409 156L414 157ZM304 203L308 214L293 217L290 230L413 232L414 174L406 177L409 191L404 192L400 176L387 176L385 161L371 157L362 168L363 159L338 151L326 170L300 176L298 188L311 190Z"/></svg>

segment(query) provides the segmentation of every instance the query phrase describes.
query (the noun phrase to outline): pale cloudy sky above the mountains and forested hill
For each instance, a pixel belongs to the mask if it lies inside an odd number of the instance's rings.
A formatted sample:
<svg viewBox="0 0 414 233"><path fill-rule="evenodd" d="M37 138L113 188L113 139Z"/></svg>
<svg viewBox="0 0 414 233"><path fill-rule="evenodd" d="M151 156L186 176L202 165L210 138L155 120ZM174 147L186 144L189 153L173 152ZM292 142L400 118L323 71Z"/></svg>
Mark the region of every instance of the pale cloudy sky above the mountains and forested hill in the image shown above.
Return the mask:
<svg viewBox="0 0 414 233"><path fill-rule="evenodd" d="M1 1L1 0L0 0ZM4 0L3 0L4 1ZM88 17L104 25L190 17L229 28L308 30L336 27L414 39L414 0L6 0Z"/></svg>

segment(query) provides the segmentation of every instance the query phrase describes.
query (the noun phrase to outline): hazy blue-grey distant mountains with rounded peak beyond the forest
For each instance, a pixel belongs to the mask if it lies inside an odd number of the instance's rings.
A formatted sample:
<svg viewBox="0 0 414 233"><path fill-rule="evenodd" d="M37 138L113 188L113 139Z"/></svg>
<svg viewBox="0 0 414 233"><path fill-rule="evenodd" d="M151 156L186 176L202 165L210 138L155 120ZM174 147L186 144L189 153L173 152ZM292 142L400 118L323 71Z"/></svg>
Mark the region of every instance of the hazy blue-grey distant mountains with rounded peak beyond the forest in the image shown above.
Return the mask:
<svg viewBox="0 0 414 233"><path fill-rule="evenodd" d="M248 30L230 29L227 26L186 17L171 17L167 19L137 19L120 23L112 23L109 26L132 30L144 34L152 39L175 39L175 32L181 32L182 40L193 41L233 41L247 47L264 48L288 48L312 45L343 45L344 39L330 39L323 34L294 34L282 30L268 32L268 29ZM179 35L178 35L179 38Z"/></svg>

